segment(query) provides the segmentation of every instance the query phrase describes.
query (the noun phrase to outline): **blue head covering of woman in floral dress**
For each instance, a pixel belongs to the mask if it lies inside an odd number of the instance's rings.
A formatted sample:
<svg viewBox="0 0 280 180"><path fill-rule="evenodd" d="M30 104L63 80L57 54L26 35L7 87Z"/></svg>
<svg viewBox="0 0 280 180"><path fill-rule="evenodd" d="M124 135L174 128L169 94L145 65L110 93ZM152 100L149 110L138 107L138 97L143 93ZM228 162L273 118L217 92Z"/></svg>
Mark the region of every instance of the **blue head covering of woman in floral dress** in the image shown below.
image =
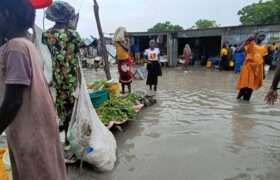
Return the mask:
<svg viewBox="0 0 280 180"><path fill-rule="evenodd" d="M55 1L53 5L46 10L46 18L56 23L68 24L74 17L74 7L64 1Z"/></svg>

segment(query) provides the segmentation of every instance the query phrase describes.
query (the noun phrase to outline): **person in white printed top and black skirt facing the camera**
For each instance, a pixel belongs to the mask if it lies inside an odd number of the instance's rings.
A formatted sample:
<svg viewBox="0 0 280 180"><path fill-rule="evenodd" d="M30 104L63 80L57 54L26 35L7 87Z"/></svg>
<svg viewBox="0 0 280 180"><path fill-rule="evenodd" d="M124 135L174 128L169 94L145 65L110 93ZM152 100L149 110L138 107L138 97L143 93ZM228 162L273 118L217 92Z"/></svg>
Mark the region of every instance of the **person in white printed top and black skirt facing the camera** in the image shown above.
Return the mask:
<svg viewBox="0 0 280 180"><path fill-rule="evenodd" d="M155 40L150 40L150 48L145 50L144 56L148 62L147 70L147 85L150 90L157 91L158 76L162 75L160 65L160 50L156 48Z"/></svg>

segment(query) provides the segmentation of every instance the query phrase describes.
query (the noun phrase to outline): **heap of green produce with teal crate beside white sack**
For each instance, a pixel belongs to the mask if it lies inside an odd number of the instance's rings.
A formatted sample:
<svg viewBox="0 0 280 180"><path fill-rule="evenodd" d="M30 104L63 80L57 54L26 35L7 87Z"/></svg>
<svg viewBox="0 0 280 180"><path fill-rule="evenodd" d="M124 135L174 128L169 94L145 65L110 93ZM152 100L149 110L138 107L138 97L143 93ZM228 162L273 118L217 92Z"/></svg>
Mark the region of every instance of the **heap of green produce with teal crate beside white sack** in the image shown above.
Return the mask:
<svg viewBox="0 0 280 180"><path fill-rule="evenodd" d="M156 103L153 97L145 93L131 93L121 97L119 84L114 81L94 81L88 88L99 118L109 128L136 119L137 113L144 106Z"/></svg>

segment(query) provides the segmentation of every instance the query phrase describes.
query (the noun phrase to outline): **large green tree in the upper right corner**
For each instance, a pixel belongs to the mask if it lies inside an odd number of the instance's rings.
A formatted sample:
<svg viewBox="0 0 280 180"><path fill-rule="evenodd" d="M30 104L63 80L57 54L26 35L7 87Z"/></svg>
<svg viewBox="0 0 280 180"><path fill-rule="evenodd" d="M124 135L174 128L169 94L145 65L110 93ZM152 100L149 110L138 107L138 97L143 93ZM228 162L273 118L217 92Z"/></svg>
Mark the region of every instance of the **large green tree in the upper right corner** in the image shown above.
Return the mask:
<svg viewBox="0 0 280 180"><path fill-rule="evenodd" d="M243 25L280 23L280 0L259 1L238 11Z"/></svg>

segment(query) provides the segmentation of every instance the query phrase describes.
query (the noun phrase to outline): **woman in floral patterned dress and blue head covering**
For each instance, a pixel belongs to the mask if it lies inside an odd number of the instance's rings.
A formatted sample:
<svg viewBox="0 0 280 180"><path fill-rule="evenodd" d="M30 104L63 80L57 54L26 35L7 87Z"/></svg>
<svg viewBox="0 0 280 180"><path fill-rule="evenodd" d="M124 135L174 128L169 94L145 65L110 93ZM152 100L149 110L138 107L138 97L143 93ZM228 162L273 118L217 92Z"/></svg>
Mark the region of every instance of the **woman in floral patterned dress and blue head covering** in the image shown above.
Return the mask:
<svg viewBox="0 0 280 180"><path fill-rule="evenodd" d="M60 119L60 131L65 132L65 146L69 145L67 133L72 117L75 92L80 76L80 35L70 28L75 9L64 1L56 1L46 10L46 18L55 22L54 27L43 33L43 43L51 52L53 82L56 90L55 106Z"/></svg>

